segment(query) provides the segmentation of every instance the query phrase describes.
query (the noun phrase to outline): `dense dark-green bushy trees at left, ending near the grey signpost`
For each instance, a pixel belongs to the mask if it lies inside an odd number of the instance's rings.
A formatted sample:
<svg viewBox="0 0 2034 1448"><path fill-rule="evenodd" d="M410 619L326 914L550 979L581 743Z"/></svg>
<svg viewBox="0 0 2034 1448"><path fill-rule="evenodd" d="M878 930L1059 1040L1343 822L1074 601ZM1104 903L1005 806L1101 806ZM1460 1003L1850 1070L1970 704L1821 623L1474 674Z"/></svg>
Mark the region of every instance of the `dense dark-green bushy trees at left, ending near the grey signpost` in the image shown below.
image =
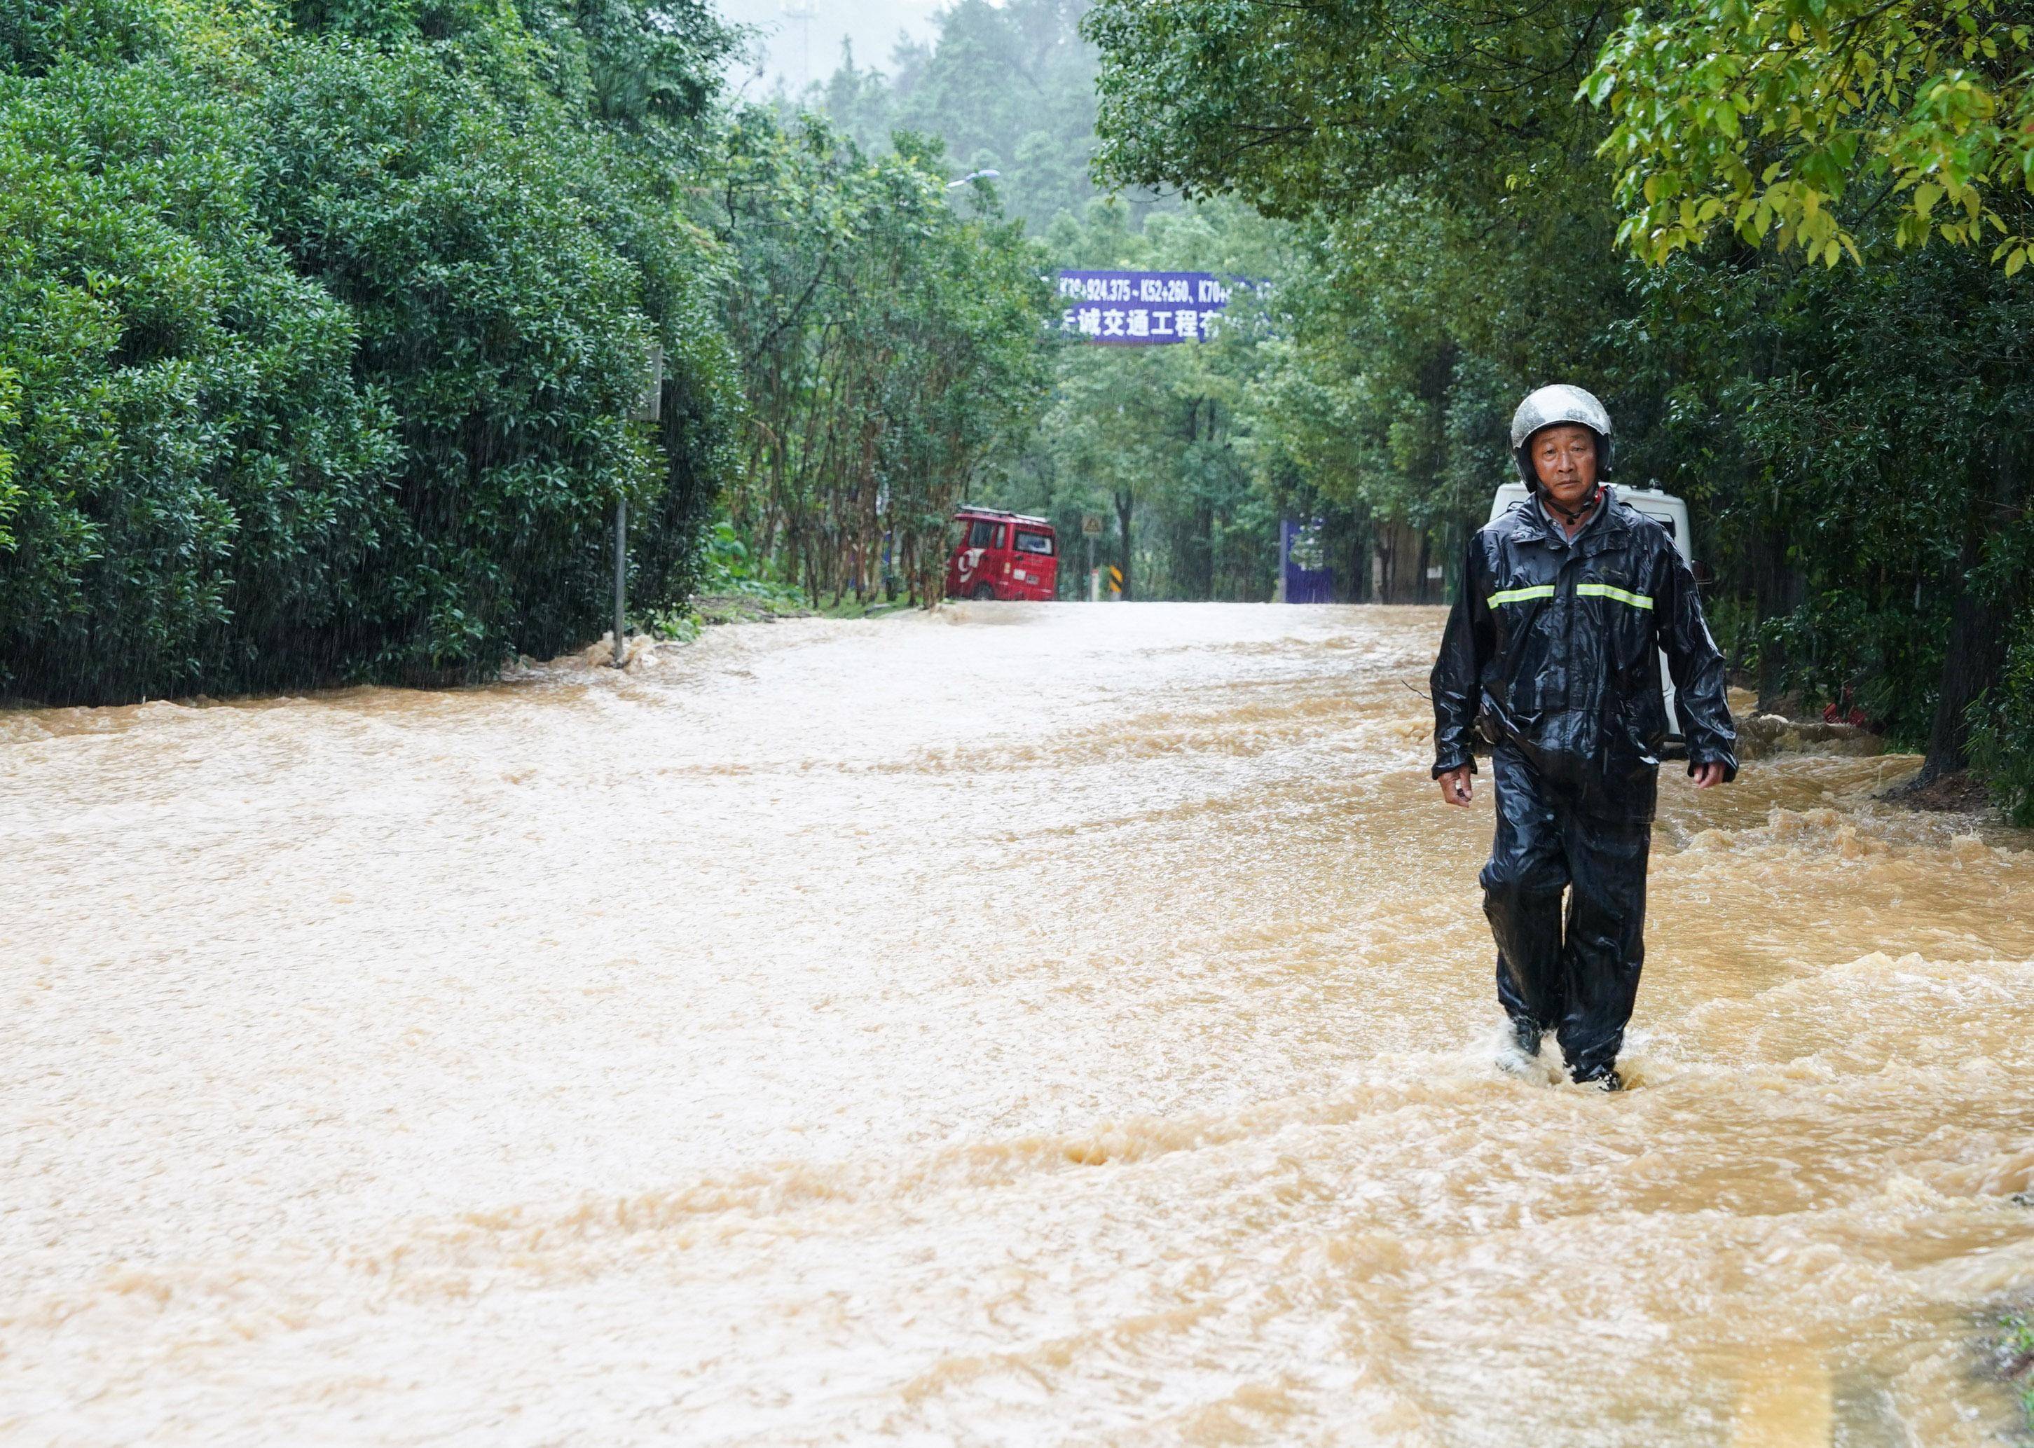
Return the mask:
<svg viewBox="0 0 2034 1448"><path fill-rule="evenodd" d="M724 423L626 417L657 342L724 388L712 275L582 18L616 8L6 0L12 691L484 675L598 630L618 498L690 551L710 484L655 500ZM677 89L724 47L694 18L673 57L633 10Z"/></svg>

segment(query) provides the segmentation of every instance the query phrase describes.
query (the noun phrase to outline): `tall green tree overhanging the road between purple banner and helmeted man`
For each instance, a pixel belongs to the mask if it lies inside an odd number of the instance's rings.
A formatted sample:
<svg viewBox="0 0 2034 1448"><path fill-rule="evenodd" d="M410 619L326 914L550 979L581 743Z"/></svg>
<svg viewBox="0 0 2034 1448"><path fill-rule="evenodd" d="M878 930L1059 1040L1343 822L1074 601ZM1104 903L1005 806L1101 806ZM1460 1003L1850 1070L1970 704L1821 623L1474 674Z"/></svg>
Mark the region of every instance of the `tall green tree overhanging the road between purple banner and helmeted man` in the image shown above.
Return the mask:
<svg viewBox="0 0 2034 1448"><path fill-rule="evenodd" d="M1251 407L1265 478L1338 512L1385 596L1428 596L1503 478L1473 423L1550 374L1617 390L1595 340L1623 277L1578 260L1613 232L1605 126L1572 104L1603 12L1104 0L1086 28L1106 179L1300 228Z"/></svg>

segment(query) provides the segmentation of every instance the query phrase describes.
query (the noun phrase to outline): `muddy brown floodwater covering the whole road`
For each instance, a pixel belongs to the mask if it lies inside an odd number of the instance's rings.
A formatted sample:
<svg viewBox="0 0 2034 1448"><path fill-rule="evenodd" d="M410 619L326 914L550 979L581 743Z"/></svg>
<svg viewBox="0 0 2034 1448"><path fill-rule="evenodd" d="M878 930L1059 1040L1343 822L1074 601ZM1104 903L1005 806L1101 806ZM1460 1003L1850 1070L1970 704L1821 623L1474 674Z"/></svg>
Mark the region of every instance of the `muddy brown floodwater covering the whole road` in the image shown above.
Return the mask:
<svg viewBox="0 0 2034 1448"><path fill-rule="evenodd" d="M0 1442L1995 1444L2034 840L1662 781L1491 1068L1434 610L0 716Z"/></svg>

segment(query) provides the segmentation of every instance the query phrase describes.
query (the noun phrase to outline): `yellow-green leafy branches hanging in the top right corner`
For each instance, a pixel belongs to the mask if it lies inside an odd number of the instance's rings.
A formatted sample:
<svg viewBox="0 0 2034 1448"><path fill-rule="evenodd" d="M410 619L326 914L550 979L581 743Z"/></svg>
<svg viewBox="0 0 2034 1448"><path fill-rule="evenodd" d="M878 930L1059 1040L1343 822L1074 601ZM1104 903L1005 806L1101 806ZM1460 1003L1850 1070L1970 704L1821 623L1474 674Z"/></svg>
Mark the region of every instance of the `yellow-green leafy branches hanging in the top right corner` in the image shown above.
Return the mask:
<svg viewBox="0 0 2034 1448"><path fill-rule="evenodd" d="M2034 248L2030 35L1995 0L1633 10L1584 81L1617 118L1619 240L1664 260L1723 226L1835 266L1875 224L2012 277Z"/></svg>

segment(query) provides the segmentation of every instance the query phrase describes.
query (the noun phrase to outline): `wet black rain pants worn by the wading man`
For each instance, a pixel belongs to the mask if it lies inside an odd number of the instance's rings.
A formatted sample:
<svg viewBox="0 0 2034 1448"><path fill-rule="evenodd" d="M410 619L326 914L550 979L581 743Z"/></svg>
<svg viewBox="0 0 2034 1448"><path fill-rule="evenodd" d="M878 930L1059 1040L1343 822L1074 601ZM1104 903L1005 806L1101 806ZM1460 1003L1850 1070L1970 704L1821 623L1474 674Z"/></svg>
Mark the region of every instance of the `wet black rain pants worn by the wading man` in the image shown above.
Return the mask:
<svg viewBox="0 0 2034 1448"><path fill-rule="evenodd" d="M1556 1033L1574 1080L1595 1080L1617 1062L1646 964L1660 767L1605 771L1499 744L1491 777L1497 838L1481 881L1497 938L1497 999L1515 1023Z"/></svg>

